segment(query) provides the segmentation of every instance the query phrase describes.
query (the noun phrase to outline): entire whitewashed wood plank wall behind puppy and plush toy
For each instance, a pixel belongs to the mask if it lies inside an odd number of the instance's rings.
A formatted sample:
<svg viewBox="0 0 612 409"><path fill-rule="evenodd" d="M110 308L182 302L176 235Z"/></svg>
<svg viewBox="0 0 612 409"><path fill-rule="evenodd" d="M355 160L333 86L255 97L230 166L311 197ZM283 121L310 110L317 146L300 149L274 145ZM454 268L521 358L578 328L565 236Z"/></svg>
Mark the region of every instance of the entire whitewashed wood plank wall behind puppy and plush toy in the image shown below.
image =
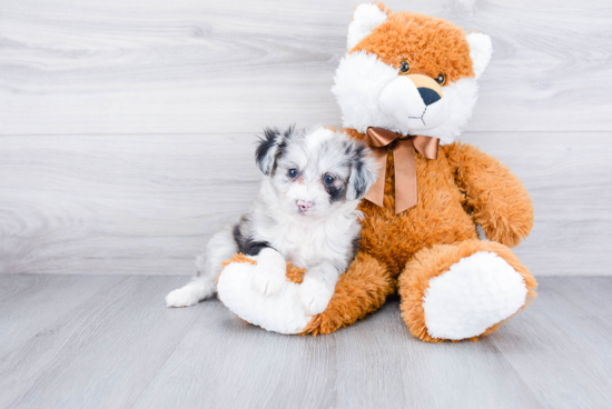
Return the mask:
<svg viewBox="0 0 612 409"><path fill-rule="evenodd" d="M188 275L264 126L339 126L358 1L0 3L0 273ZM612 3L387 1L493 38L463 141L525 182L537 276L610 275Z"/></svg>

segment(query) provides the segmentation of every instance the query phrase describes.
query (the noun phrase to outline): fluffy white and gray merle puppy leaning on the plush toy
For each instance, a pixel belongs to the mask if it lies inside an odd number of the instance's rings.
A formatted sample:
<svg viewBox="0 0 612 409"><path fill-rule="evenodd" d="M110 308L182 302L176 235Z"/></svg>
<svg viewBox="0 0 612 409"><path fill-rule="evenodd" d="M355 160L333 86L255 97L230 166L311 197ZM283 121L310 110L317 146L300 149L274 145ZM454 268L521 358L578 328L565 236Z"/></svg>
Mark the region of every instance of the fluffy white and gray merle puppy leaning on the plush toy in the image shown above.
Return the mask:
<svg viewBox="0 0 612 409"><path fill-rule="evenodd" d="M265 177L251 208L210 239L196 260L197 277L166 297L169 307L214 295L221 262L241 252L257 260L256 291L280 292L292 261L306 269L298 291L306 313L327 308L358 248L356 207L376 180L375 161L364 142L323 127L266 129L255 157Z"/></svg>

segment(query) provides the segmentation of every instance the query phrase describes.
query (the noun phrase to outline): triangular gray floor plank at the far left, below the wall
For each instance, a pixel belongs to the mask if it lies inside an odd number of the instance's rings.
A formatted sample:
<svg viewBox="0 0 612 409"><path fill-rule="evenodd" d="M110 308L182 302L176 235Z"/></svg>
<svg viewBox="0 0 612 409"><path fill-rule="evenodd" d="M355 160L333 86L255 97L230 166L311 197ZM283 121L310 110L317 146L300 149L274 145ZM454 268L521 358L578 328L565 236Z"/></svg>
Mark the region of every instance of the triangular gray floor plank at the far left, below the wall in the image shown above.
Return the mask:
<svg viewBox="0 0 612 409"><path fill-rule="evenodd" d="M107 306L108 295L129 280L120 276L0 276L2 286L31 287L0 301L0 407L31 387L67 347L78 326L96 312L92 301L101 299Z"/></svg>

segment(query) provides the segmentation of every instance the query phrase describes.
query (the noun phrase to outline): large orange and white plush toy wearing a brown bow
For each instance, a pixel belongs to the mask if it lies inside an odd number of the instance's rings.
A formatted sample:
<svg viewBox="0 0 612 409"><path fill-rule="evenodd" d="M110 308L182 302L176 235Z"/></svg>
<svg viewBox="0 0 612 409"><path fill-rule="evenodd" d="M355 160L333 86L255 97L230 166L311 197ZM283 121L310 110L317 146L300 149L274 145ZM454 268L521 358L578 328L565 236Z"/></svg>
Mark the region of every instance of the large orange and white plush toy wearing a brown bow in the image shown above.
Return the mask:
<svg viewBox="0 0 612 409"><path fill-rule="evenodd" d="M382 3L356 8L333 92L344 131L365 140L382 176L361 205L359 251L329 305L310 317L297 297L308 271L288 268L280 295L250 286L256 258L227 261L217 290L244 320L282 333L329 333L401 296L424 341L487 335L535 297L511 251L533 225L519 179L496 159L455 142L472 114L491 39ZM482 226L488 240L481 240Z"/></svg>

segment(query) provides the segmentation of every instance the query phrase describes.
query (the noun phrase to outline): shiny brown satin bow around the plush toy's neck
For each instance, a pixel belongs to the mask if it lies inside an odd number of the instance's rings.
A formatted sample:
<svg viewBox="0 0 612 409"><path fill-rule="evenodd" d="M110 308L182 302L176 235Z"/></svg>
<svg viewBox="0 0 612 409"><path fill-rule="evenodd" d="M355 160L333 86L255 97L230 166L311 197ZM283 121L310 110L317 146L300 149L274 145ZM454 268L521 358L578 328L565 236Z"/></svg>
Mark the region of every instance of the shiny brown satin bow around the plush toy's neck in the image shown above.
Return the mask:
<svg viewBox="0 0 612 409"><path fill-rule="evenodd" d="M397 140L395 146L388 147ZM440 139L422 134L403 137L384 128L368 128L365 141L372 149L374 159L381 164L381 176L369 188L365 198L376 206L383 207L385 197L385 173L387 169L387 152L393 149L395 163L395 213L399 213L416 205L416 162L414 151L427 159L437 159Z"/></svg>

